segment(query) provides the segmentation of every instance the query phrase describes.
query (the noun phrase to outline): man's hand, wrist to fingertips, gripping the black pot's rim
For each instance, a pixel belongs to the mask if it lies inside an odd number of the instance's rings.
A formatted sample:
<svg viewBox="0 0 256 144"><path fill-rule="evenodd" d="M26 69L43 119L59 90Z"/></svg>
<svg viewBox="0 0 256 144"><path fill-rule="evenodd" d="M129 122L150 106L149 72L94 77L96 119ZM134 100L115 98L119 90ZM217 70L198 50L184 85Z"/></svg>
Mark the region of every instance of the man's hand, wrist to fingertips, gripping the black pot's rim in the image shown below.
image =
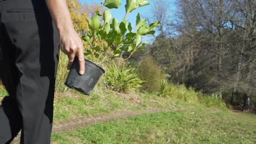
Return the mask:
<svg viewBox="0 0 256 144"><path fill-rule="evenodd" d="M77 56L79 62L79 73L83 75L85 71L84 48L82 40L74 29L60 33L60 47L69 59L67 69L71 69L71 66L74 63L74 58Z"/></svg>

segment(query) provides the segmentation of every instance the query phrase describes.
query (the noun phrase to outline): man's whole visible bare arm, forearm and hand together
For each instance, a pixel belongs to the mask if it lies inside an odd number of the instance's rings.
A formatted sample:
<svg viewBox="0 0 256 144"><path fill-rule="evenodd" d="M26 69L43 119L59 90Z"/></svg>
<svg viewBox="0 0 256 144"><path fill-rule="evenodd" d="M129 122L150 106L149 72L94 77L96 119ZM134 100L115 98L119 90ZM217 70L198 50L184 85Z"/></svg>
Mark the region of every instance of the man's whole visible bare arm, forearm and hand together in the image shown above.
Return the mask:
<svg viewBox="0 0 256 144"><path fill-rule="evenodd" d="M79 61L79 73L83 75L85 71L83 44L78 33L74 30L66 0L45 1L60 33L61 50L66 53L69 58L67 68L71 68L74 58L77 56Z"/></svg>

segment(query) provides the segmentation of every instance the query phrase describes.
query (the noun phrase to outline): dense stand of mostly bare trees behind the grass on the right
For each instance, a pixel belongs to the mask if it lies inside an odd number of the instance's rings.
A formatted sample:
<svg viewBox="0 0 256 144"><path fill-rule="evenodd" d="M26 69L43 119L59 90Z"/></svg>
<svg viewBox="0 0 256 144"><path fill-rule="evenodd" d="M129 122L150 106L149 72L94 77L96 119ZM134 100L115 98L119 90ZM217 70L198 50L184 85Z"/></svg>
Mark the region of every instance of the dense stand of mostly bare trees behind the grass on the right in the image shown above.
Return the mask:
<svg viewBox="0 0 256 144"><path fill-rule="evenodd" d="M172 4L154 1L149 20L162 23L145 53L170 81L255 109L256 1L176 0L176 17L170 19Z"/></svg>

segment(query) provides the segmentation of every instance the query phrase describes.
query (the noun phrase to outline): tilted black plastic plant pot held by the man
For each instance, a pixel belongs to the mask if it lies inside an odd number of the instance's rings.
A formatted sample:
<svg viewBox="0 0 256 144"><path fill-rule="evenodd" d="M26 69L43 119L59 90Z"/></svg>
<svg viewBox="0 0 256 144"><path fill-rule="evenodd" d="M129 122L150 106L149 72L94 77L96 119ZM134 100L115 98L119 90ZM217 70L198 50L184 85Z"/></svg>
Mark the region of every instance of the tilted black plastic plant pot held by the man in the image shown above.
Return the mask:
<svg viewBox="0 0 256 144"><path fill-rule="evenodd" d="M65 85L77 89L77 91L83 94L90 95L92 89L94 89L96 83L104 73L105 71L97 64L85 59L85 73L84 75L80 75L79 62L77 58L75 58Z"/></svg>

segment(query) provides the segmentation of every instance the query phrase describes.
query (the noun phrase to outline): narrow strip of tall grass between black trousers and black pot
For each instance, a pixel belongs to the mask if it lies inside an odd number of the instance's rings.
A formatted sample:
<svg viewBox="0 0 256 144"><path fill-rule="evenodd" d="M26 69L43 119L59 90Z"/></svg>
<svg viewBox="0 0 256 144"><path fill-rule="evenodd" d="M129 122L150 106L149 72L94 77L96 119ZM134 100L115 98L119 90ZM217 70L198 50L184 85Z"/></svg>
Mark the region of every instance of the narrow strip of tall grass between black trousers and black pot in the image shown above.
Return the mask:
<svg viewBox="0 0 256 144"><path fill-rule="evenodd" d="M65 88L66 88L65 81L69 73L69 70L67 70L68 61L69 61L68 57L63 52L60 52L59 66L58 66L56 85L55 85L56 92L65 91Z"/></svg>

